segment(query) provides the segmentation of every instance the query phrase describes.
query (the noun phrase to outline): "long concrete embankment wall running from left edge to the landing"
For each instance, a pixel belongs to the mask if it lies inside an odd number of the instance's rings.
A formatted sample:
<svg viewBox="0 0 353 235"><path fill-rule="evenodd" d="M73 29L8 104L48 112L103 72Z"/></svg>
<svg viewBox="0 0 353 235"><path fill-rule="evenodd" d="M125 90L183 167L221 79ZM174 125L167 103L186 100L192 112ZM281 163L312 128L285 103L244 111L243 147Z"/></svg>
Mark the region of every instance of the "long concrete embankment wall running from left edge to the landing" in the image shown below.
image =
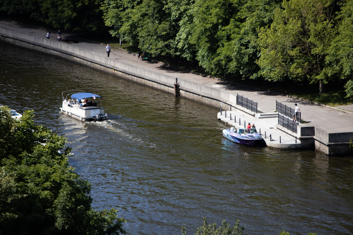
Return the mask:
<svg viewBox="0 0 353 235"><path fill-rule="evenodd" d="M38 37L6 27L0 27L0 36L0 42L2 43L73 61L164 92L173 94L174 83L178 83L180 97L212 107L218 108L221 105L223 110L229 110L230 106L236 103L236 96L226 91L114 60L107 56L80 49L72 44L48 40L46 37Z"/></svg>

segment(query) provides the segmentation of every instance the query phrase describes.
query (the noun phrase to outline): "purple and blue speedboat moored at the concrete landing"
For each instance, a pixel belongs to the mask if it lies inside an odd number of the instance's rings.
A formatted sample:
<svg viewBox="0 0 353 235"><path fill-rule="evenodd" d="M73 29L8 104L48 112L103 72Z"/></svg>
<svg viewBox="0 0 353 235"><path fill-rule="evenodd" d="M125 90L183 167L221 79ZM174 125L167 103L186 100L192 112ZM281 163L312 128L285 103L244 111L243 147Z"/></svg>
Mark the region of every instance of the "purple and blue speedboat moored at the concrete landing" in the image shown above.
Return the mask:
<svg viewBox="0 0 353 235"><path fill-rule="evenodd" d="M231 127L231 129L223 130L223 136L235 143L247 146L253 146L256 141L262 140L261 135L257 133L255 128L234 130L234 127Z"/></svg>

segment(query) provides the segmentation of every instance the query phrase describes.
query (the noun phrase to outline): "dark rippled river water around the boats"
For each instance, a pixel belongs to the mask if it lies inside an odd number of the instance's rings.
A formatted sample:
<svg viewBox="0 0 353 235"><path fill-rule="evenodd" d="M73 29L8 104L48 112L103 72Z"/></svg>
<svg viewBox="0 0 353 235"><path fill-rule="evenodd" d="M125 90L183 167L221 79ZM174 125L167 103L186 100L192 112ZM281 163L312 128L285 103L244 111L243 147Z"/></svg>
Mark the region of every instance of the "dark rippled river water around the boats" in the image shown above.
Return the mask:
<svg viewBox="0 0 353 235"><path fill-rule="evenodd" d="M241 146L216 109L4 44L0 76L1 105L68 138L92 206L118 208L128 234L194 234L203 216L254 235L353 233L352 158ZM59 114L69 89L102 95L110 120Z"/></svg>

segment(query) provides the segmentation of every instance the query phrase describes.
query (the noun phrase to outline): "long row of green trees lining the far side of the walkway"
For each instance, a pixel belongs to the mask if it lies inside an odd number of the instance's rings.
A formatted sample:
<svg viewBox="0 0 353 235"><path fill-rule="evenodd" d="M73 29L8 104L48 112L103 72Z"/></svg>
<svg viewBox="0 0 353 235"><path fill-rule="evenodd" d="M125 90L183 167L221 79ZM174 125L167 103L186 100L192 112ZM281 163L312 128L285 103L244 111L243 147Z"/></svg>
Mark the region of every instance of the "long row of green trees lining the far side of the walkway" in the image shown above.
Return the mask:
<svg viewBox="0 0 353 235"><path fill-rule="evenodd" d="M346 83L353 99L352 0L0 0L72 30L109 28L152 56L180 56L213 75Z"/></svg>

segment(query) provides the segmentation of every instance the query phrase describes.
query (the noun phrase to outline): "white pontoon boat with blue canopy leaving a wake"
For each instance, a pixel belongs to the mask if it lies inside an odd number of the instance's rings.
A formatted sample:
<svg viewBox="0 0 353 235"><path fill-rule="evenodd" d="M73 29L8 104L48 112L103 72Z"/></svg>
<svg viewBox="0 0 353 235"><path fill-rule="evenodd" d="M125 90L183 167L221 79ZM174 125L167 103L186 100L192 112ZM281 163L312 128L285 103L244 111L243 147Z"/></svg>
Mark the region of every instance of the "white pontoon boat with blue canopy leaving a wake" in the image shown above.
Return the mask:
<svg viewBox="0 0 353 235"><path fill-rule="evenodd" d="M108 120L108 115L102 106L102 99L100 95L82 90L64 91L60 111L83 122Z"/></svg>

